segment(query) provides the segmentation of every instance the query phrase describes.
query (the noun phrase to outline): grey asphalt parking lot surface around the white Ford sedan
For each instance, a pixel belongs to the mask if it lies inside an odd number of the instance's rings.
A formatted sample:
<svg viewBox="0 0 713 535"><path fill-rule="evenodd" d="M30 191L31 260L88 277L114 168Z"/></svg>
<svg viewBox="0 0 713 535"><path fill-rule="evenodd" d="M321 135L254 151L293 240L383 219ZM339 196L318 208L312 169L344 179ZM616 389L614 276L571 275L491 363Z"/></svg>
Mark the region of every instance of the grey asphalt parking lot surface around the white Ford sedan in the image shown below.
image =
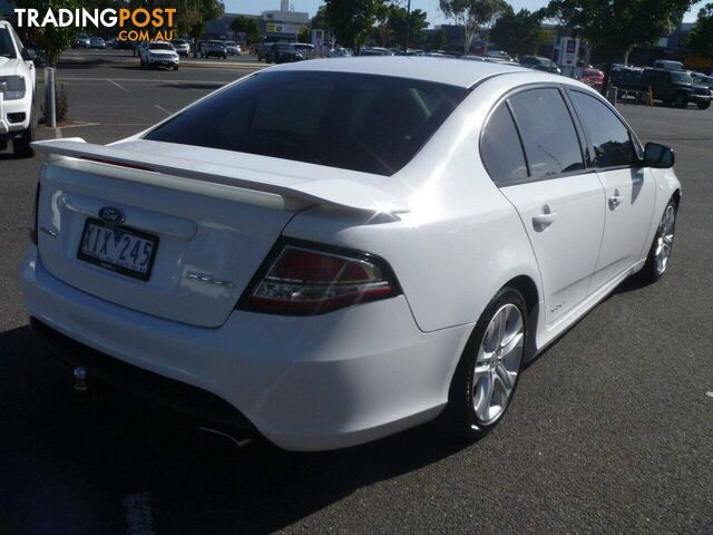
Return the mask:
<svg viewBox="0 0 713 535"><path fill-rule="evenodd" d="M67 59L70 123L42 138L120 139L256 67ZM424 426L328 454L238 450L120 395L77 398L17 276L40 157L1 152L0 533L713 534L713 110L619 109L676 152L670 271L551 346L469 446Z"/></svg>

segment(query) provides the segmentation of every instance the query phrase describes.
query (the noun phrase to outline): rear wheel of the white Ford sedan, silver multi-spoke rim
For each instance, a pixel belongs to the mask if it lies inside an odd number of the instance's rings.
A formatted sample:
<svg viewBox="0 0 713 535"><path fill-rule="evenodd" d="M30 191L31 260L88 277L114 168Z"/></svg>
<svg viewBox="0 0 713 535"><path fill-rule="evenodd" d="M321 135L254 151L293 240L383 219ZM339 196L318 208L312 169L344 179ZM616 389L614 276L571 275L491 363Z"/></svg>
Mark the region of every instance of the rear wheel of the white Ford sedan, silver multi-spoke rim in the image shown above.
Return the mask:
<svg viewBox="0 0 713 535"><path fill-rule="evenodd" d="M478 319L456 368L442 417L450 432L475 440L500 421L515 396L528 329L522 294L505 286Z"/></svg>

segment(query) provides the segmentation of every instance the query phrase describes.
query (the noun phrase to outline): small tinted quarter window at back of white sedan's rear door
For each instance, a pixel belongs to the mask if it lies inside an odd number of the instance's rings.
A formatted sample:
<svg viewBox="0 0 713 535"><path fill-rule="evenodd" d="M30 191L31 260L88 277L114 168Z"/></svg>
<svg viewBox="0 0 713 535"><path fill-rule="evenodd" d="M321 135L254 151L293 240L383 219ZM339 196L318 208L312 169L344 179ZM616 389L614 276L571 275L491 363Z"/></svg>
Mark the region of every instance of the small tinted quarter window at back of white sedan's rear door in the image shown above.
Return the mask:
<svg viewBox="0 0 713 535"><path fill-rule="evenodd" d="M498 186L507 186L527 178L522 146L507 105L492 113L482 132L480 157Z"/></svg>

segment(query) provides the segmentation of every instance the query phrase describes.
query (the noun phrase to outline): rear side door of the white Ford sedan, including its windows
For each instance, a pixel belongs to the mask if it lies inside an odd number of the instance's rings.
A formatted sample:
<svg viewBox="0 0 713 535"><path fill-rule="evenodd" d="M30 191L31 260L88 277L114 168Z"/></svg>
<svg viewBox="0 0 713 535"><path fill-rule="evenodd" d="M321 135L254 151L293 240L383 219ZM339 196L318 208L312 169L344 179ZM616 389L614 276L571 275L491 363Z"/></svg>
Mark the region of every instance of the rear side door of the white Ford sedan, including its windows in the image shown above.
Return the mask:
<svg viewBox="0 0 713 535"><path fill-rule="evenodd" d="M579 137L561 90L540 86L501 103L481 142L488 173L517 210L537 257L547 324L586 298L604 232L604 188L585 166ZM502 149L508 144L515 154Z"/></svg>

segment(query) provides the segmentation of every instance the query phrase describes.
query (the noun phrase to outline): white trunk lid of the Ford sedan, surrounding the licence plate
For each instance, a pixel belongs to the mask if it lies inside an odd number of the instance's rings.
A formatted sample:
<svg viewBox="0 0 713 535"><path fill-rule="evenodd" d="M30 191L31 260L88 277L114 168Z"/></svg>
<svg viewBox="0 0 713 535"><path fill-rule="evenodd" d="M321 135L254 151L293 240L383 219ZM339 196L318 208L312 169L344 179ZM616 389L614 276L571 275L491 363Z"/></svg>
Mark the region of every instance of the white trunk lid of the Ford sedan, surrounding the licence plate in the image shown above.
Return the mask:
<svg viewBox="0 0 713 535"><path fill-rule="evenodd" d="M123 307L215 328L297 211L315 204L369 210L364 203L385 201L383 192L361 183L354 186L356 202L350 200L340 189L350 181L339 169L196 147L185 147L194 158L176 158L170 155L186 153L166 145L35 144L49 154L38 205L38 244L48 272ZM236 160L240 166L231 163ZM374 192L377 198L365 200ZM99 221L113 211L120 221ZM80 249L88 222L119 236L155 240L150 276L139 280L87 261Z"/></svg>

